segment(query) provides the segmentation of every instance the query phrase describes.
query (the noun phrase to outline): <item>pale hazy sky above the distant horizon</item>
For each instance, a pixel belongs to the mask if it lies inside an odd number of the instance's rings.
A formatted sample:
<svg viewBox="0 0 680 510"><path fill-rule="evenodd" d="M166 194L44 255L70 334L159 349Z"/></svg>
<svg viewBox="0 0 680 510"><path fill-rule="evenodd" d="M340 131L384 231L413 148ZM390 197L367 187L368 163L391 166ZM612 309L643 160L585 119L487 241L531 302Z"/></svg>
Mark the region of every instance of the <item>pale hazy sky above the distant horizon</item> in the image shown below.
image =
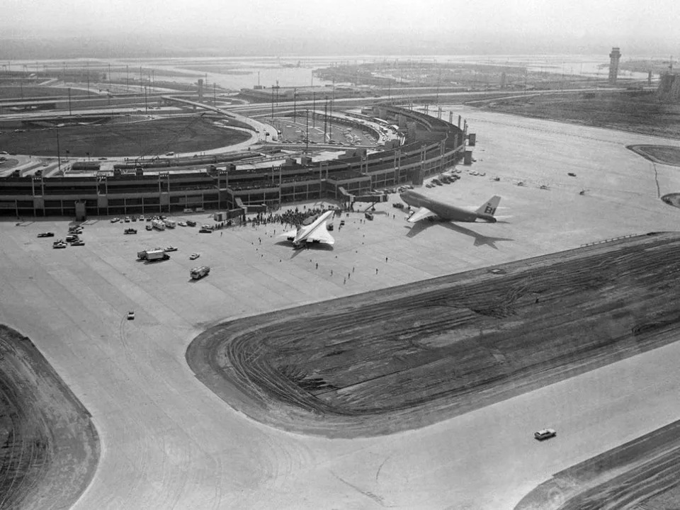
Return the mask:
<svg viewBox="0 0 680 510"><path fill-rule="evenodd" d="M0 38L232 38L263 49L283 41L286 50L305 41L305 51L332 40L339 53L357 42L426 48L465 39L508 52L552 43L680 55L678 19L671 0L3 0Z"/></svg>

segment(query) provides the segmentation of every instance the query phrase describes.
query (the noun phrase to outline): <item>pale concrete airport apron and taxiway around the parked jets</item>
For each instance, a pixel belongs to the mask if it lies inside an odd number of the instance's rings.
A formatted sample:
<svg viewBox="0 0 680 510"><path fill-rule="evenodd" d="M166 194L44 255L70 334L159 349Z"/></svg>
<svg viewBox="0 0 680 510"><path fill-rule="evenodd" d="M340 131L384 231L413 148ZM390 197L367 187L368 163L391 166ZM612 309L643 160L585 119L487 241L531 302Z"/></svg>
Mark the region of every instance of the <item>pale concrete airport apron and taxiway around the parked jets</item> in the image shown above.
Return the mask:
<svg viewBox="0 0 680 510"><path fill-rule="evenodd" d="M422 429L353 440L263 426L191 373L186 347L224 319L677 228L680 210L658 198L680 188L676 169L625 145L678 142L461 112L477 133L470 169L486 175L459 166L460 181L424 191L472 208L502 196L495 224L428 223L409 236L404 212L387 203L373 222L336 221L334 249L293 251L268 237L280 225L199 234L137 222L125 226L139 234L123 235L91 218L85 246L53 250L36 235L65 237L67 221L0 223L0 322L40 348L101 439L74 508L511 509L553 473L677 418L677 344ZM135 261L169 244L179 247L169 261ZM192 282L198 265L212 270ZM533 431L545 426L558 436L538 443Z"/></svg>

